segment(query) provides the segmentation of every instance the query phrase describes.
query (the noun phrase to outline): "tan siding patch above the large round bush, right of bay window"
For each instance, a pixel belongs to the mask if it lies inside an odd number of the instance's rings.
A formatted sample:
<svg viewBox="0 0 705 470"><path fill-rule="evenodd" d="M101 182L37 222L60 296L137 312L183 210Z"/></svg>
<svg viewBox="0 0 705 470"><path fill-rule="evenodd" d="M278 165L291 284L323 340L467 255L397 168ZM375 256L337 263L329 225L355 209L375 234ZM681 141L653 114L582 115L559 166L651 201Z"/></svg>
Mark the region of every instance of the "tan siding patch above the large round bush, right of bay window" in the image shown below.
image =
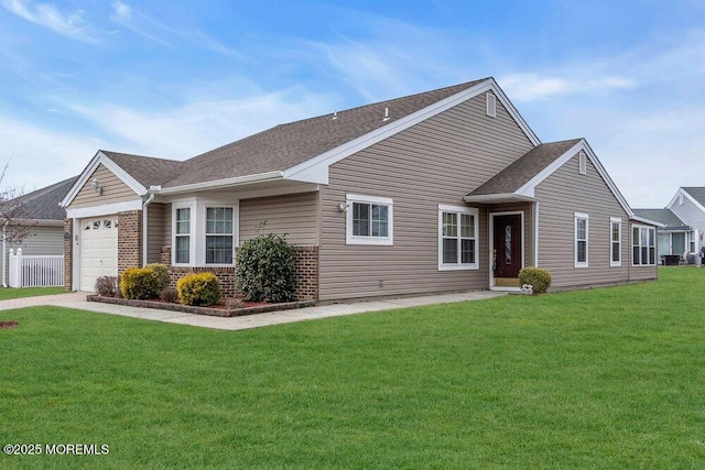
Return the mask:
<svg viewBox="0 0 705 470"><path fill-rule="evenodd" d="M240 200L240 243L257 237L267 221L265 233L285 233L290 243L317 245L317 193Z"/></svg>

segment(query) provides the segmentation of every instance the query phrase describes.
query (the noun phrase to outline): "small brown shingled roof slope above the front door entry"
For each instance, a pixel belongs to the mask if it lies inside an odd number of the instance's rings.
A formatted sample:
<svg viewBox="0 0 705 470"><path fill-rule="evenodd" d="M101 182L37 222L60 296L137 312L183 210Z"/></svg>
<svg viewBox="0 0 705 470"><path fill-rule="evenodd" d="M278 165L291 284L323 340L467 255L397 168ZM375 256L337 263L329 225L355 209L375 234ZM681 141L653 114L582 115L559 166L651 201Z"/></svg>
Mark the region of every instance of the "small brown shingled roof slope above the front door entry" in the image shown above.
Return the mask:
<svg viewBox="0 0 705 470"><path fill-rule="evenodd" d="M579 141L581 139L573 139L540 144L488 179L468 196L512 194Z"/></svg>

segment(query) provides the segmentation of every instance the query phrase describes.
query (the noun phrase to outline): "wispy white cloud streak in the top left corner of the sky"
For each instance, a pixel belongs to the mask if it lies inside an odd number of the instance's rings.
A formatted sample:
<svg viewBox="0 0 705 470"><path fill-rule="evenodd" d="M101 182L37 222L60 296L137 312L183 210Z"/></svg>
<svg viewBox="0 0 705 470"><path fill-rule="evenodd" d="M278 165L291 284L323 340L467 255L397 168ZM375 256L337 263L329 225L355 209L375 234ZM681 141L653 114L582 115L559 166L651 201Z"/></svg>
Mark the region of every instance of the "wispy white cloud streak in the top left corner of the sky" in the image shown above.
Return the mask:
<svg viewBox="0 0 705 470"><path fill-rule="evenodd" d="M48 3L28 0L1 0L6 10L43 28L86 43L98 42L93 28L86 23L83 12L64 13Z"/></svg>

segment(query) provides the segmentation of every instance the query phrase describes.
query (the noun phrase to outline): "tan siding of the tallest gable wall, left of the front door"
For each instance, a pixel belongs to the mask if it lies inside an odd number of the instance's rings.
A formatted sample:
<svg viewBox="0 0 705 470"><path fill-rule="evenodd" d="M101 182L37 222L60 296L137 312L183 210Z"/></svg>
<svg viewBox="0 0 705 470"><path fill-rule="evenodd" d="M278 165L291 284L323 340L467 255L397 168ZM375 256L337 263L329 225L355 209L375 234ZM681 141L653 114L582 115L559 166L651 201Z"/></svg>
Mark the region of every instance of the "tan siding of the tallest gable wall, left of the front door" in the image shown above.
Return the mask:
<svg viewBox="0 0 705 470"><path fill-rule="evenodd" d="M390 109L393 116L393 109ZM322 189L319 298L488 288L487 211L479 209L478 270L438 271L438 205L463 197L532 143L498 102L478 96L334 165ZM393 199L393 245L347 245L346 194Z"/></svg>

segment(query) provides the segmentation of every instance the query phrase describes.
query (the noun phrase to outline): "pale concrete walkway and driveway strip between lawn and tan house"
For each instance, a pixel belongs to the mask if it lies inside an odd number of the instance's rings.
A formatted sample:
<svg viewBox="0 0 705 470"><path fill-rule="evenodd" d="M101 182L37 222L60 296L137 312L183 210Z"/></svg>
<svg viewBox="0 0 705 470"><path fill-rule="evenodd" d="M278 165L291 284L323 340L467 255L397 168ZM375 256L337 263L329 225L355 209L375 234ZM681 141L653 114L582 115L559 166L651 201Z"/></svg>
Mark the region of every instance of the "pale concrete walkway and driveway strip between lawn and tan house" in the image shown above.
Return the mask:
<svg viewBox="0 0 705 470"><path fill-rule="evenodd" d="M196 327L224 330L241 330L265 327L270 325L290 324L294 321L338 317L343 315L390 310L394 308L419 307L423 305L434 304L449 304L465 300L482 300L487 298L499 297L502 295L506 295L506 293L473 291L455 294L427 295L423 297L404 297L388 300L333 304L317 307L297 308L293 310L270 311L265 314L248 315L245 317L220 318L206 315L184 314L181 311L159 310L154 308L138 308L123 305L101 304L98 302L86 302L86 293L69 293L46 295L41 297L0 300L0 310L41 305L55 305L59 307L97 311L101 314L121 315L126 317L165 321L170 324L191 325Z"/></svg>

